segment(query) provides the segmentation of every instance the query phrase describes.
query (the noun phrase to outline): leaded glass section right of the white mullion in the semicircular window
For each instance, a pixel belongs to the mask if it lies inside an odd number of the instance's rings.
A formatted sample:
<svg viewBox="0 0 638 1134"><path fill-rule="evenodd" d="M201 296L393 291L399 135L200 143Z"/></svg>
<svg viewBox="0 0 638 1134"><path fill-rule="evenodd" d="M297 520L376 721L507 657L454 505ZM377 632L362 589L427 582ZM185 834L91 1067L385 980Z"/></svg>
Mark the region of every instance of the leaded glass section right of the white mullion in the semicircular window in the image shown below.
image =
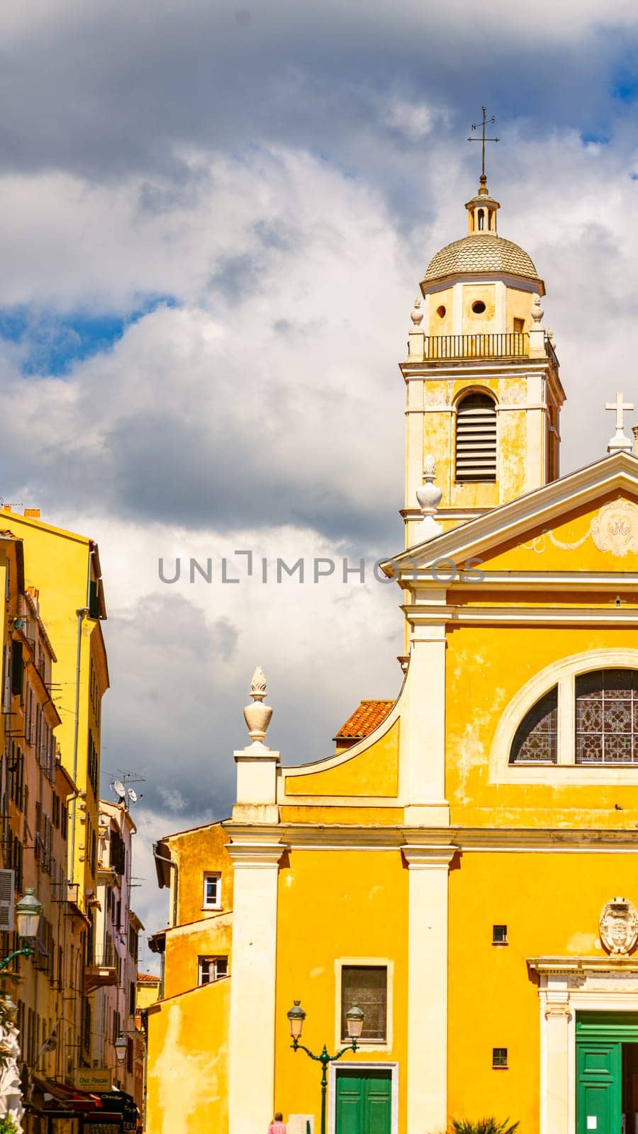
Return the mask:
<svg viewBox="0 0 638 1134"><path fill-rule="evenodd" d="M577 677L576 762L638 763L638 670L599 669Z"/></svg>

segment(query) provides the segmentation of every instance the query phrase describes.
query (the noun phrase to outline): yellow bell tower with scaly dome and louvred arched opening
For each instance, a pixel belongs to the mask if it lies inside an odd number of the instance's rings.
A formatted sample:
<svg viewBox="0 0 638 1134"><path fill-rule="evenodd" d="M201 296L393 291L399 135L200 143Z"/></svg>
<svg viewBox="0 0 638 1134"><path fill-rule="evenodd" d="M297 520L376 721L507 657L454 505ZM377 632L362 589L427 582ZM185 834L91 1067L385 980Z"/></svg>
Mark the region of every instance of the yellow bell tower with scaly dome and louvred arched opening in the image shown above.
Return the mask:
<svg viewBox="0 0 638 1134"><path fill-rule="evenodd" d="M527 252L498 236L485 172L465 209L467 236L437 252L421 280L401 364L408 547L419 542L427 458L444 531L559 476L565 396L543 324L545 285Z"/></svg>

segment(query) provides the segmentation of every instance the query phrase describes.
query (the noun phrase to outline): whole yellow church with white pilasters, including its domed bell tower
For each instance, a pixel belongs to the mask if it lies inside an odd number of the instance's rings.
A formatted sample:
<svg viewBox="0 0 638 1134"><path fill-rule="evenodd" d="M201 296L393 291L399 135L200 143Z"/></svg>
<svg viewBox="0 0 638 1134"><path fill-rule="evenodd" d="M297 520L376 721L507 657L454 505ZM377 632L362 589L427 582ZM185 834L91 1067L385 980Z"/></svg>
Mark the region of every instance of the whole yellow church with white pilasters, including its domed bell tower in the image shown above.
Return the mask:
<svg viewBox="0 0 638 1134"><path fill-rule="evenodd" d="M411 316L404 680L286 767L253 678L229 820L156 848L170 888L148 1132L638 1128L638 458L559 475L544 285L485 179ZM596 457L596 455L593 455ZM362 691L366 692L366 691ZM362 706L363 712L363 706ZM317 742L317 747L320 742ZM210 898L215 900L209 900ZM624 1126L621 1126L624 1122Z"/></svg>

